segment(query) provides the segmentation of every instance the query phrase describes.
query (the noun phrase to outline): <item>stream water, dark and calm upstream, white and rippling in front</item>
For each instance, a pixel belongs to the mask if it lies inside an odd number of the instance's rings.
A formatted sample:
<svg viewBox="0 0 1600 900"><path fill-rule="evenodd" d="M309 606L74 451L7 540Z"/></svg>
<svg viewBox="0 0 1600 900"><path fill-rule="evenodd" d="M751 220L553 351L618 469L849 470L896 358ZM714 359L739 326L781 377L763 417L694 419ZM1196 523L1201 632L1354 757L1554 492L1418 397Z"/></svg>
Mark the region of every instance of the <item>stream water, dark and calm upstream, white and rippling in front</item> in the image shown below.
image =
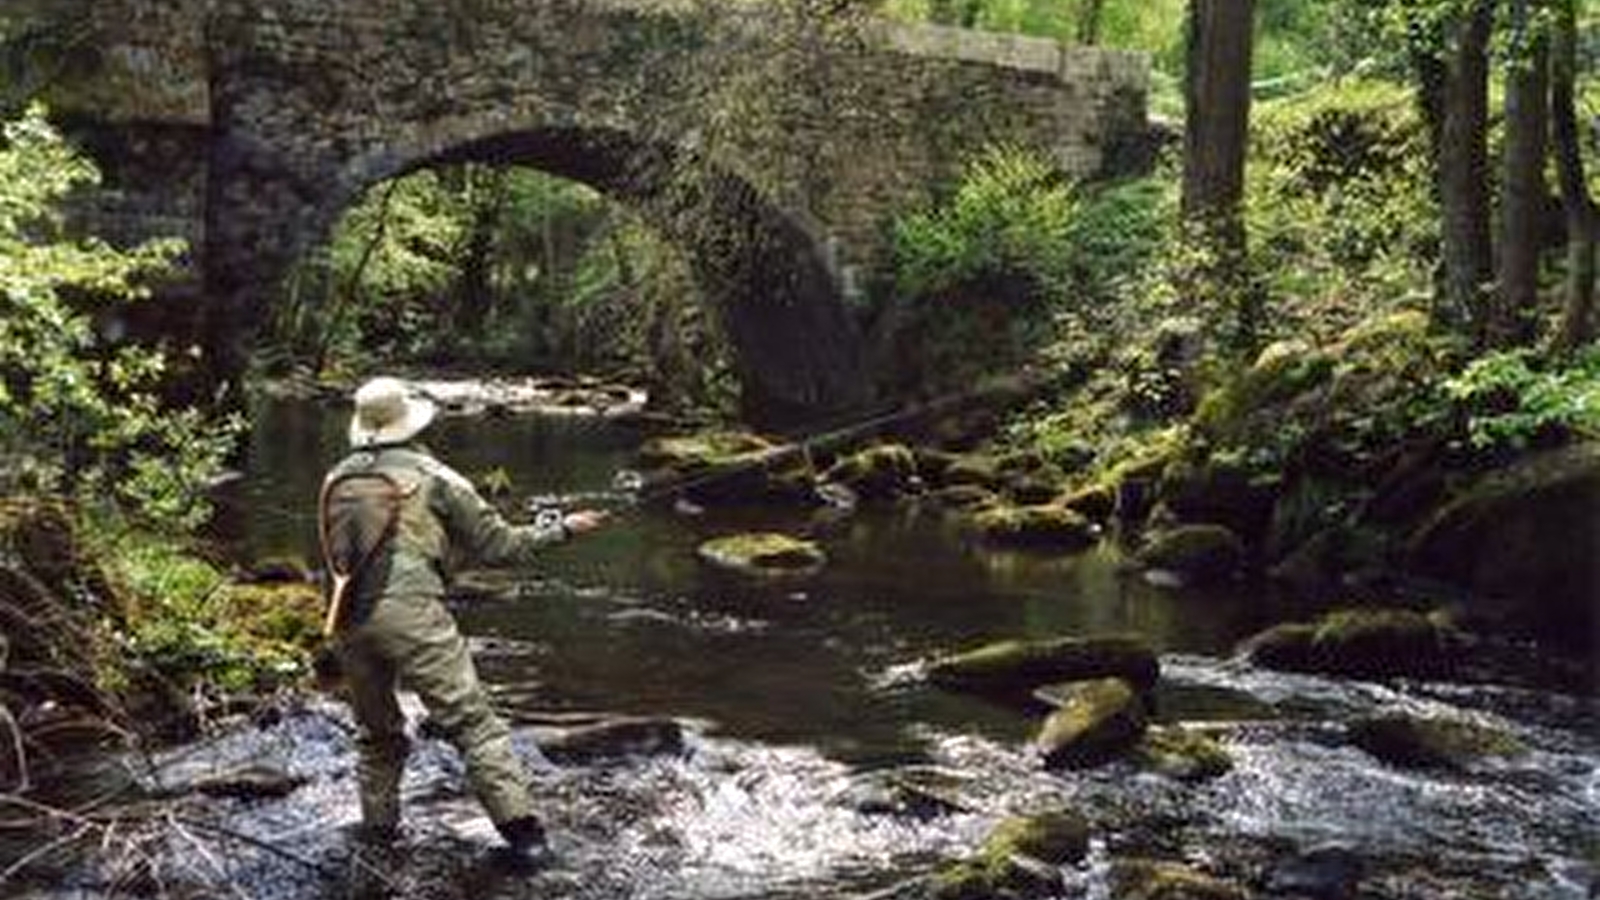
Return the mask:
<svg viewBox="0 0 1600 900"><path fill-rule="evenodd" d="M314 559L315 488L342 453L346 415L259 410L226 541L251 557ZM517 496L571 498L632 466L638 434L571 418L445 418L429 442L469 476L504 469ZM816 538L827 567L755 585L696 560L699 541L752 527ZM1005 815L1067 806L1094 838L1064 873L1066 897L1114 897L1107 871L1123 857L1186 862L1259 897L1595 897L1600 719L1589 698L1253 669L1230 647L1307 612L1259 586L1158 589L1112 551L990 552L939 514L899 506L640 512L480 593L458 618L515 722L560 865L504 871L459 762L430 738L406 780L406 838L387 850L355 842L352 724L322 700L158 761L168 781L242 764L307 778L280 799L205 801L206 822L234 838L189 865L248 897L923 897L930 873ZM1213 724L1232 772L1198 785L1123 762L1045 772L1027 751L1037 719L917 677L918 660L986 639L1122 631L1162 653L1158 717ZM1352 717L1392 711L1493 724L1528 753L1418 772L1342 738ZM686 746L544 759L541 733L584 713L670 717ZM944 802L870 802L893 778L918 777L936 780ZM75 890L93 895L94 878Z"/></svg>

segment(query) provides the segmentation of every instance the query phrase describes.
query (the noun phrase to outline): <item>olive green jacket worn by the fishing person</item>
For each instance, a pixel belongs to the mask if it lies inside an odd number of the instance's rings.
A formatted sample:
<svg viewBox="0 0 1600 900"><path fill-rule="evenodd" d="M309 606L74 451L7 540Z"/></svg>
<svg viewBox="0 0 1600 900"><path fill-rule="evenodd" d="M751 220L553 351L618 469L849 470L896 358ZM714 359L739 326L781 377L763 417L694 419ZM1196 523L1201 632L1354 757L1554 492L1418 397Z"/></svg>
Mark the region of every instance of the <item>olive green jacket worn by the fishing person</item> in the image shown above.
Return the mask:
<svg viewBox="0 0 1600 900"><path fill-rule="evenodd" d="M566 536L560 522L506 522L472 482L418 445L358 450L328 480L355 471L382 472L403 495L389 551L354 585L357 604L368 609L384 596L443 596L462 565L525 565L538 548Z"/></svg>

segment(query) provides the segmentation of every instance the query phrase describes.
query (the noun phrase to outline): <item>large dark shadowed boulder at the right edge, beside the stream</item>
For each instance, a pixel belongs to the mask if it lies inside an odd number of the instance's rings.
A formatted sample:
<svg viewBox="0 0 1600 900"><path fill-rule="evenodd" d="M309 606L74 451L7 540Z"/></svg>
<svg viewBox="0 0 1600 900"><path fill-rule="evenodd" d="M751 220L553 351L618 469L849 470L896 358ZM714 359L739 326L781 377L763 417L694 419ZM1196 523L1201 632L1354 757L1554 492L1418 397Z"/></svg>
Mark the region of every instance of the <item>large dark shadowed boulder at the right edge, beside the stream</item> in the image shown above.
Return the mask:
<svg viewBox="0 0 1600 900"><path fill-rule="evenodd" d="M1600 440L1483 477L1408 541L1408 569L1507 607L1528 636L1582 652L1600 636Z"/></svg>

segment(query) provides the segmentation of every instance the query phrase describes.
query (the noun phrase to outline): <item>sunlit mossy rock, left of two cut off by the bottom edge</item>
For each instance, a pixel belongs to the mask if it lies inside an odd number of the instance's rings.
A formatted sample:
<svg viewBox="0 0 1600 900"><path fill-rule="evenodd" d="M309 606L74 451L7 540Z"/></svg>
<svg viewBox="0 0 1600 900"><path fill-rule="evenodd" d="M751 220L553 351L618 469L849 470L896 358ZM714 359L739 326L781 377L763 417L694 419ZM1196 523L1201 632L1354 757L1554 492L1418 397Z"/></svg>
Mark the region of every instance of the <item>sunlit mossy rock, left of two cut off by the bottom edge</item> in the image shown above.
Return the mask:
<svg viewBox="0 0 1600 900"><path fill-rule="evenodd" d="M1088 849L1088 822L1075 812L1008 818L978 855L936 873L931 894L938 900L1053 897L1061 890L1061 866L1082 860Z"/></svg>

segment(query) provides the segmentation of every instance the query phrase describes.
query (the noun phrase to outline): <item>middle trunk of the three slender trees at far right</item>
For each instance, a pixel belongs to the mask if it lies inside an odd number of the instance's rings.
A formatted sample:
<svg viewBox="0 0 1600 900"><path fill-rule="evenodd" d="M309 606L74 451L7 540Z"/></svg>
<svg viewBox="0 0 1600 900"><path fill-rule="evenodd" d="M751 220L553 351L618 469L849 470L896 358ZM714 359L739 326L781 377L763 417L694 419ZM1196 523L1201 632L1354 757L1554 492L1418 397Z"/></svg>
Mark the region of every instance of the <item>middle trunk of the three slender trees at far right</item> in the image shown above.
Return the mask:
<svg viewBox="0 0 1600 900"><path fill-rule="evenodd" d="M1478 320L1478 341L1507 346L1526 336L1539 304L1544 162L1550 149L1549 42L1533 22L1541 0L1512 0L1514 53L1506 77L1506 157L1501 176L1499 290Z"/></svg>

